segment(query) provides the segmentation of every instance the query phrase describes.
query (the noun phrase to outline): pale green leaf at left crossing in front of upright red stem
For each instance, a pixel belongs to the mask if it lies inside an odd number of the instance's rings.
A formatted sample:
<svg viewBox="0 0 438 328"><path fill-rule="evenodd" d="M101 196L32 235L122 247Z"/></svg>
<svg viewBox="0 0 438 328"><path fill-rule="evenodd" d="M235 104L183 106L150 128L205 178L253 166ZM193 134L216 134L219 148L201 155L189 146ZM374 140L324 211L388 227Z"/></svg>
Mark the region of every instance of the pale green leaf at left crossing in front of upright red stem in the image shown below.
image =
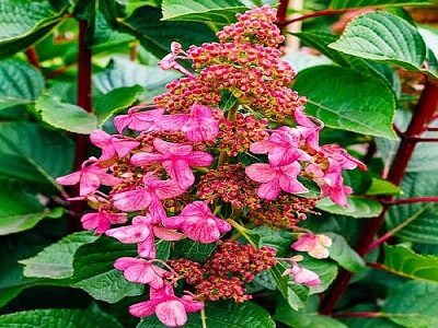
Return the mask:
<svg viewBox="0 0 438 328"><path fill-rule="evenodd" d="M45 122L58 129L82 134L90 134L97 129L97 118L93 114L55 97L41 96L35 109L41 112Z"/></svg>

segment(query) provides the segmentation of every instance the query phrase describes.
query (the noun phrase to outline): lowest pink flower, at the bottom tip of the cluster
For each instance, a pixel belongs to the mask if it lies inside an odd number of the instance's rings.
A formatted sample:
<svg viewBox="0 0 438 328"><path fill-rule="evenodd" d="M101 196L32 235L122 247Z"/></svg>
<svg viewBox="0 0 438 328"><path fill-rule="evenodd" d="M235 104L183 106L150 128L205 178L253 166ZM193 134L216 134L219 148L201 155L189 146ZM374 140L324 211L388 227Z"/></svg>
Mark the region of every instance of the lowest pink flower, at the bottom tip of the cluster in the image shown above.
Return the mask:
<svg viewBox="0 0 438 328"><path fill-rule="evenodd" d="M129 313L136 317L148 317L153 313L168 327L181 327L187 321L187 313L200 311L204 303L192 296L176 297L171 284L151 289L150 300L129 306Z"/></svg>

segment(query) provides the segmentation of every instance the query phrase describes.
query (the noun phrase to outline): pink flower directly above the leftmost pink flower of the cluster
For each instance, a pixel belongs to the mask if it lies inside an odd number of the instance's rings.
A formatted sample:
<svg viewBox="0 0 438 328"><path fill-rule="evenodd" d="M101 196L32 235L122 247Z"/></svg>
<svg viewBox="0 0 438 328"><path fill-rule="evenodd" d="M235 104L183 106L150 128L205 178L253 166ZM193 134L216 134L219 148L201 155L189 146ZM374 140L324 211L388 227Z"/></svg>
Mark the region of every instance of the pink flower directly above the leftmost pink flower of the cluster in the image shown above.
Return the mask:
<svg viewBox="0 0 438 328"><path fill-rule="evenodd" d="M114 159L116 155L122 159L127 156L130 151L136 149L140 142L131 140L127 137L118 138L111 136L102 130L94 130L90 134L90 140L96 147L102 149L100 161L107 161Z"/></svg>

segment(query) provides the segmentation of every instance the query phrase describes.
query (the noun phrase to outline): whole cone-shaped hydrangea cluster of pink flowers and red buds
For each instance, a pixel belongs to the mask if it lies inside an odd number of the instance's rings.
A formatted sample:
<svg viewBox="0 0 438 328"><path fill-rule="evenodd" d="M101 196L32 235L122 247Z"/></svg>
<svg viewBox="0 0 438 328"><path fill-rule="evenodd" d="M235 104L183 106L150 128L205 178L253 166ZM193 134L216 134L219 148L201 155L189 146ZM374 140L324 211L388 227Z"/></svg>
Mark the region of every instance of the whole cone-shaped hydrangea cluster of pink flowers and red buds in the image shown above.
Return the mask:
<svg viewBox="0 0 438 328"><path fill-rule="evenodd" d="M244 244L241 234L245 224L301 232L292 249L327 257L330 238L299 223L319 198L347 206L351 188L342 172L365 169L341 147L319 144L323 122L304 114L306 98L289 87L295 73L277 49L284 37L276 10L253 8L237 19L218 43L187 50L173 43L160 66L185 77L152 105L115 117L118 134L93 131L100 159L57 179L79 183L72 199L96 210L82 216L84 229L136 245L137 257L114 263L128 281L149 286L148 301L129 312L155 314L169 327L183 326L206 301L250 300L244 284L278 260L291 263L285 274L296 283L319 284L315 272L298 265L300 256L278 259L276 249ZM307 181L321 188L319 198L308 195ZM212 245L211 251L201 260L158 257L158 243L182 239ZM189 290L183 295L175 292L181 284Z"/></svg>

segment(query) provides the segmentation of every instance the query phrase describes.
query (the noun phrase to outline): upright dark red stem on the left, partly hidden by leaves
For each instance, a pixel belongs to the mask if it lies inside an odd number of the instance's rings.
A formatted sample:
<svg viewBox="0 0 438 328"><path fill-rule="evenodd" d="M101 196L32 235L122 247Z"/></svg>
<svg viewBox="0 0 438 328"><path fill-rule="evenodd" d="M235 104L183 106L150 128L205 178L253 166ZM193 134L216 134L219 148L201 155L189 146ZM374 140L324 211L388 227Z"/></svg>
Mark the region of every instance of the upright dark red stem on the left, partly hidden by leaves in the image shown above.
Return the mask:
<svg viewBox="0 0 438 328"><path fill-rule="evenodd" d="M85 43L87 21L79 21L79 54L78 54L78 106L87 112L92 110L91 99L91 48ZM74 151L74 171L81 169L82 163L88 157L88 136L76 134L76 151ZM72 195L79 195L79 185L72 187ZM79 216L84 209L83 201L72 201L70 210L73 218L70 221L69 231L74 232L80 230Z"/></svg>

